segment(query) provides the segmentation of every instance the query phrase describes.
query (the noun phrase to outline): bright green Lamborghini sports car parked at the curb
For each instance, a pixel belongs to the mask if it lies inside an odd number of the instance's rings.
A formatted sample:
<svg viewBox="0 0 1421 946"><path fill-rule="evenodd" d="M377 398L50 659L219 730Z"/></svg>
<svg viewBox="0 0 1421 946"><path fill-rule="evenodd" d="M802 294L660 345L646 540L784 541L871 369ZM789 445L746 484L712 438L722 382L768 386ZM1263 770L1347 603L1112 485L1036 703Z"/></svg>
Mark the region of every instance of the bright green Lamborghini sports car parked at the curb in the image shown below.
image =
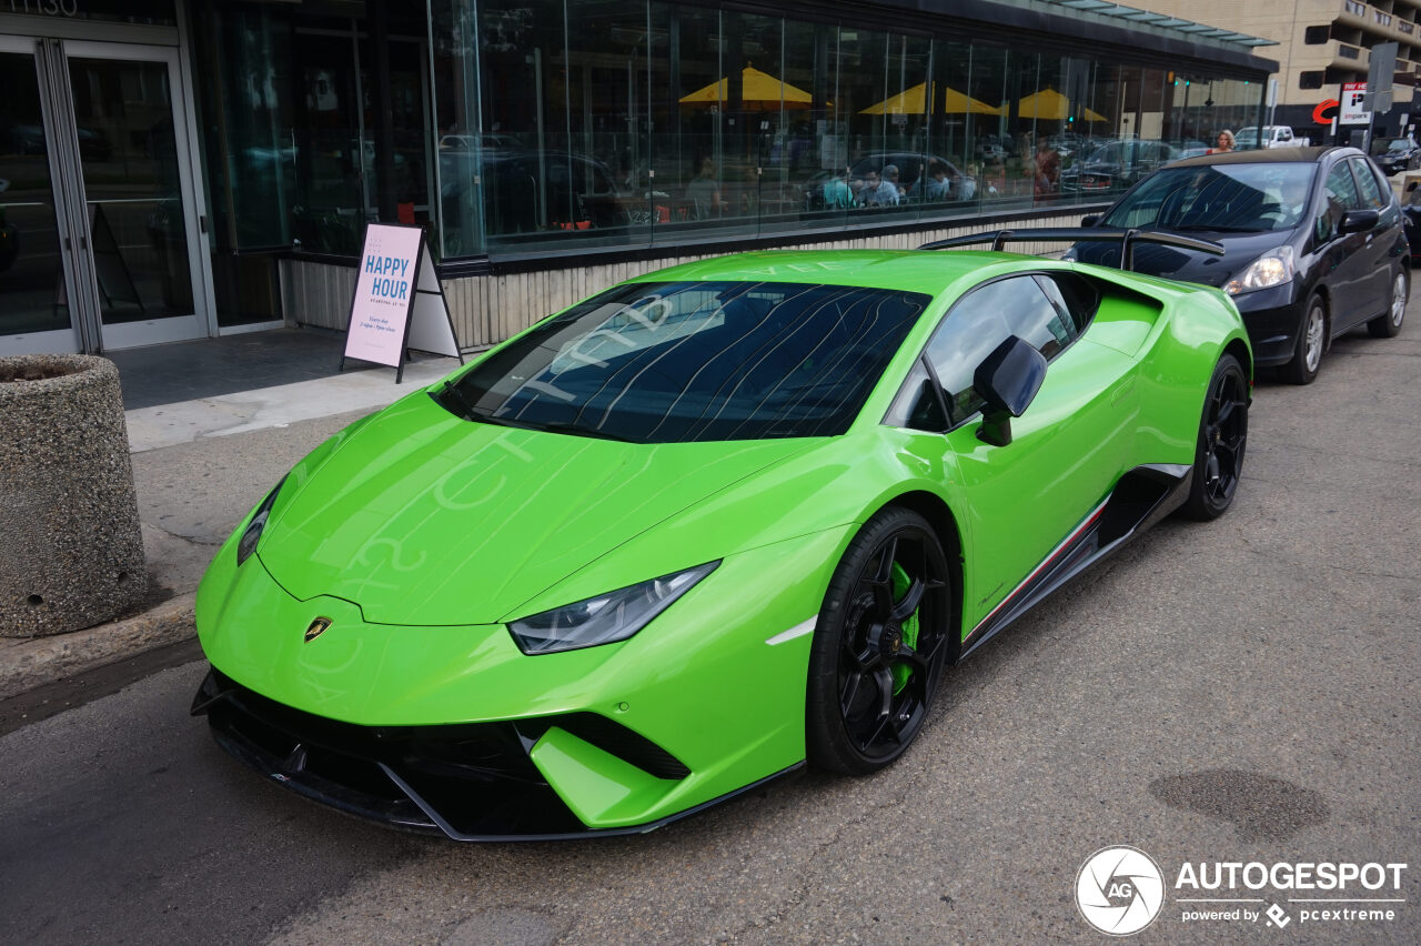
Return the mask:
<svg viewBox="0 0 1421 946"><path fill-rule="evenodd" d="M193 713L267 778L456 839L872 773L945 665L1154 520L1228 509L1250 378L1221 291L1128 271L651 273L291 469L198 591Z"/></svg>

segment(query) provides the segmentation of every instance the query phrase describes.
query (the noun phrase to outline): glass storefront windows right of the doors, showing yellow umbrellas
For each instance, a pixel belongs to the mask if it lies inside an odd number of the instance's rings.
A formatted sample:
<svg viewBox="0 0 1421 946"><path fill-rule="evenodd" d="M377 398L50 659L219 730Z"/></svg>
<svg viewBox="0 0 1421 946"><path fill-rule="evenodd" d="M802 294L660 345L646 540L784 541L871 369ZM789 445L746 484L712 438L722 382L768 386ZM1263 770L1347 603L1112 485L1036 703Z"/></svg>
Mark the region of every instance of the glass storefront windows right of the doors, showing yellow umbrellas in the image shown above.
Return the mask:
<svg viewBox="0 0 1421 946"><path fill-rule="evenodd" d="M968 41L935 21L429 0L428 17L391 13L406 20L388 44L391 165L372 134L368 24L205 1L242 61L219 102L230 180L271 195L215 214L239 244L338 256L389 190L445 260L1100 202L1221 122L1255 121L1263 91L1194 62L1185 101L1182 72Z"/></svg>

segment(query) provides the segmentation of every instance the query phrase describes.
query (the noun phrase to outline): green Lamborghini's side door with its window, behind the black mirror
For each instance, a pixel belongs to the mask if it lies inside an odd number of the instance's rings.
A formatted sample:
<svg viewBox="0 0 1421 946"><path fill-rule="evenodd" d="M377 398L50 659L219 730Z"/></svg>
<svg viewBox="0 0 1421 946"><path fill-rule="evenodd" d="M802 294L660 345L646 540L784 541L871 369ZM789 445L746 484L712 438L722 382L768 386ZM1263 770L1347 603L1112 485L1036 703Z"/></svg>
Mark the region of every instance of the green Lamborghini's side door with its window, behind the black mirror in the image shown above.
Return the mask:
<svg viewBox="0 0 1421 946"><path fill-rule="evenodd" d="M946 449L955 455L972 535L963 631L1007 598L1090 516L1120 476L1133 418L1134 362L1080 338L1088 312L1057 280L1015 276L988 283L952 307L926 359L948 403ZM1070 288L1070 287L1067 287ZM1012 440L978 437L978 365L1010 335L1049 361L1032 405L1012 420Z"/></svg>

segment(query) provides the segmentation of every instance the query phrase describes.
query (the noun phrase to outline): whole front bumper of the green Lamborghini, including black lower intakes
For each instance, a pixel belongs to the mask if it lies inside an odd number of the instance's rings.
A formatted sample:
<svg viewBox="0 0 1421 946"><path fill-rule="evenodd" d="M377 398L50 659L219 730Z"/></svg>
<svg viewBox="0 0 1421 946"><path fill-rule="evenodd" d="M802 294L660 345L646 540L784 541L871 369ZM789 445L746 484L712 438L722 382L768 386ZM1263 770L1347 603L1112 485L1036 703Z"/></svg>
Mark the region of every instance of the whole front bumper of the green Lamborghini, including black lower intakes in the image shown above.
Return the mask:
<svg viewBox="0 0 1421 946"><path fill-rule="evenodd" d="M195 700L267 778L456 839L639 832L804 760L810 635L848 528L728 557L637 636L527 656L506 628L392 626L288 595L225 547L198 592ZM315 616L328 629L310 641ZM772 641L776 641L772 643Z"/></svg>

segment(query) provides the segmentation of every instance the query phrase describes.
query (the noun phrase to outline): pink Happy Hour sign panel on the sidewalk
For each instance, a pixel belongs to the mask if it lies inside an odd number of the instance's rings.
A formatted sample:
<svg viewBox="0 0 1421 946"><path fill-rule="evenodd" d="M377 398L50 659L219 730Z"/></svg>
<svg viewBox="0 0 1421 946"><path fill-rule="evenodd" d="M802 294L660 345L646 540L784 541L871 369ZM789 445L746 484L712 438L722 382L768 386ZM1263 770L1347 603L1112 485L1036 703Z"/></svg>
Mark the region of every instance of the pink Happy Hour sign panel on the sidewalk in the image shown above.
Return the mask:
<svg viewBox="0 0 1421 946"><path fill-rule="evenodd" d="M419 227L371 223L355 280L345 357L401 366L419 278Z"/></svg>

